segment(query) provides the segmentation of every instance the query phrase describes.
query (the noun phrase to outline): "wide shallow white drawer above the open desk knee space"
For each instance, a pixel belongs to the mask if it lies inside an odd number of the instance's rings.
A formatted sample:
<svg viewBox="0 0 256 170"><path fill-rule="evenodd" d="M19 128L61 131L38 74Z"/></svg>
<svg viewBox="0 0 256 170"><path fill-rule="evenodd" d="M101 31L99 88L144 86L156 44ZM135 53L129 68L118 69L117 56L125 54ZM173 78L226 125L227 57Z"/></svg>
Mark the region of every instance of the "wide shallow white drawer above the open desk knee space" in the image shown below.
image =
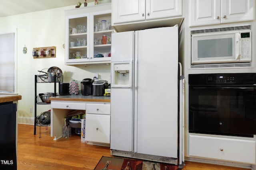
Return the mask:
<svg viewBox="0 0 256 170"><path fill-rule="evenodd" d="M77 109L86 110L85 102L63 102L63 101L51 101L51 107L54 109Z"/></svg>

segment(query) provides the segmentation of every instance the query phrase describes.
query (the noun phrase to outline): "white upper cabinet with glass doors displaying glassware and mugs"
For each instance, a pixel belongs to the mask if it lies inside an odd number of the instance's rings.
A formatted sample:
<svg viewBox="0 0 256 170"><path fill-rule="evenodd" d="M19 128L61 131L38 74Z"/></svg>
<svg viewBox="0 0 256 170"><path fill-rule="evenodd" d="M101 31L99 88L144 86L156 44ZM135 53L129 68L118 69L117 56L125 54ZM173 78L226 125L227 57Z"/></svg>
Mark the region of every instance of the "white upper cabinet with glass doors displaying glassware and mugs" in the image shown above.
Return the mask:
<svg viewBox="0 0 256 170"><path fill-rule="evenodd" d="M65 64L111 61L111 4L67 10Z"/></svg>

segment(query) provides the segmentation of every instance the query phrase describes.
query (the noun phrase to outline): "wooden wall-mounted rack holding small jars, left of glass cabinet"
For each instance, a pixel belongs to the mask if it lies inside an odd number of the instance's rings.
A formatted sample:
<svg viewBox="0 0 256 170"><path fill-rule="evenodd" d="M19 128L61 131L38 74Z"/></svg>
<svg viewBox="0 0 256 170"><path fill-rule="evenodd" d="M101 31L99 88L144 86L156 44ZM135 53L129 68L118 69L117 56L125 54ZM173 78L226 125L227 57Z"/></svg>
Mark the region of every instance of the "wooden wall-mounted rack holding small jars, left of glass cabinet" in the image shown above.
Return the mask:
<svg viewBox="0 0 256 170"><path fill-rule="evenodd" d="M32 56L34 59L55 58L55 51L55 46L33 48Z"/></svg>

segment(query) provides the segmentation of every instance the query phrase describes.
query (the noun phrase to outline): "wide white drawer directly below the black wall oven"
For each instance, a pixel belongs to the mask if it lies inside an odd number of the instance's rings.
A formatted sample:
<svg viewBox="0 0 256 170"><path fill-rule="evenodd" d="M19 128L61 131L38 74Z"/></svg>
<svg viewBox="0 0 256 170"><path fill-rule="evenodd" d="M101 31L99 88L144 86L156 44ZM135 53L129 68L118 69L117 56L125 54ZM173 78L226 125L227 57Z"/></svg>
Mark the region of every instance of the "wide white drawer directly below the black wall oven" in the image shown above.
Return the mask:
<svg viewBox="0 0 256 170"><path fill-rule="evenodd" d="M189 155L255 164L255 141L189 135Z"/></svg>

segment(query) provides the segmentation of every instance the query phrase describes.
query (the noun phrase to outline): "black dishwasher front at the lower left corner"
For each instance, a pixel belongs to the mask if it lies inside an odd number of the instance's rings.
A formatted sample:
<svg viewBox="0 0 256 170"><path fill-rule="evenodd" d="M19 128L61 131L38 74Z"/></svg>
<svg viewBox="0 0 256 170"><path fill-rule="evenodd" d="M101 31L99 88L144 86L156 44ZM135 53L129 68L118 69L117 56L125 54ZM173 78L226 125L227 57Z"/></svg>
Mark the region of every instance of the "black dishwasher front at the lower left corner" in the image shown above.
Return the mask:
<svg viewBox="0 0 256 170"><path fill-rule="evenodd" d="M0 169L17 170L16 111L12 102L0 103Z"/></svg>

